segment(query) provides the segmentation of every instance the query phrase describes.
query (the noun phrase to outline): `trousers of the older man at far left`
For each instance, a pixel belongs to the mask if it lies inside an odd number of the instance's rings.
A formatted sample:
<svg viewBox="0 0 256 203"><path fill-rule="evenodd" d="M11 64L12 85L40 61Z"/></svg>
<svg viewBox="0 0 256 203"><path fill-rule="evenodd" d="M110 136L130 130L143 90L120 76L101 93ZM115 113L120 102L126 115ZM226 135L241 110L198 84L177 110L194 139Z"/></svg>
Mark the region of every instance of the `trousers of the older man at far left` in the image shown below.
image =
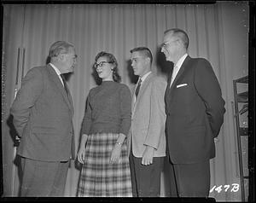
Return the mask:
<svg viewBox="0 0 256 203"><path fill-rule="evenodd" d="M69 161L40 161L21 157L21 196L63 196Z"/></svg>

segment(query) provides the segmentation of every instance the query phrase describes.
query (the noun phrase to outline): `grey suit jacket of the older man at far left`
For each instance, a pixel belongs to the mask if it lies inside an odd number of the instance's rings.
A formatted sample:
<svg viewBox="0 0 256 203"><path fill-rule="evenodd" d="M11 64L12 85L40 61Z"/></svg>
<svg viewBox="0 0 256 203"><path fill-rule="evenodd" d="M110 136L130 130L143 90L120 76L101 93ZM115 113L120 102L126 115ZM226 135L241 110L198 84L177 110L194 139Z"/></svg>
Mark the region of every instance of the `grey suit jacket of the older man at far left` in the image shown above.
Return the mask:
<svg viewBox="0 0 256 203"><path fill-rule="evenodd" d="M73 102L53 67L34 67L26 74L10 113L21 137L17 154L44 161L70 159Z"/></svg>

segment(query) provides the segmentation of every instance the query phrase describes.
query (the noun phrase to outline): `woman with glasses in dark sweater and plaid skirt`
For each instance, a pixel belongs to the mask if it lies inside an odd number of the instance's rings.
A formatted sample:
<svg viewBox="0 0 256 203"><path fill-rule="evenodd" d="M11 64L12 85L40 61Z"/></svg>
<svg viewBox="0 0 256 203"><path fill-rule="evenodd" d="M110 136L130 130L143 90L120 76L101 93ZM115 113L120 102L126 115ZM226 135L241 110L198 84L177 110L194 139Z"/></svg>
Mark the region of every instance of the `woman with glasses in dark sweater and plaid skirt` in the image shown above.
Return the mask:
<svg viewBox="0 0 256 203"><path fill-rule="evenodd" d="M125 139L131 125L131 92L119 83L118 63L112 54L100 52L94 67L102 84L90 90L85 106L78 196L132 196Z"/></svg>

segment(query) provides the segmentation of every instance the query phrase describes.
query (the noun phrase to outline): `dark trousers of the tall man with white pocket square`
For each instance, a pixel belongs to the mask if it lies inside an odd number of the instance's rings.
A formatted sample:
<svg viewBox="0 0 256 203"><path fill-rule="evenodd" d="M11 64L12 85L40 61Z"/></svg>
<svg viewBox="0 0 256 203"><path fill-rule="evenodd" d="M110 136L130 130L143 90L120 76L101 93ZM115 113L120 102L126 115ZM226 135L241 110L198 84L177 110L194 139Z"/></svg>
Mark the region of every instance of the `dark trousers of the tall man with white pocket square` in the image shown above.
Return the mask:
<svg viewBox="0 0 256 203"><path fill-rule="evenodd" d="M173 164L179 197L208 197L210 190L209 160L195 164Z"/></svg>

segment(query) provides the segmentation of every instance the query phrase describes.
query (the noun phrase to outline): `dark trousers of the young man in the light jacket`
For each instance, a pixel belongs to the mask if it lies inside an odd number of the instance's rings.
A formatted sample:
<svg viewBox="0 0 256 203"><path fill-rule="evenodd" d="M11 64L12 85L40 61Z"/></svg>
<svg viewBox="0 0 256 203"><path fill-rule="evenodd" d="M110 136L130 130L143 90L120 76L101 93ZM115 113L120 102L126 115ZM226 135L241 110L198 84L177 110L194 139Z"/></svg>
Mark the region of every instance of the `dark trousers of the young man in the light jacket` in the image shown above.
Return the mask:
<svg viewBox="0 0 256 203"><path fill-rule="evenodd" d="M142 158L130 154L131 185L133 197L159 197L160 175L164 157L154 157L153 164L142 165Z"/></svg>

